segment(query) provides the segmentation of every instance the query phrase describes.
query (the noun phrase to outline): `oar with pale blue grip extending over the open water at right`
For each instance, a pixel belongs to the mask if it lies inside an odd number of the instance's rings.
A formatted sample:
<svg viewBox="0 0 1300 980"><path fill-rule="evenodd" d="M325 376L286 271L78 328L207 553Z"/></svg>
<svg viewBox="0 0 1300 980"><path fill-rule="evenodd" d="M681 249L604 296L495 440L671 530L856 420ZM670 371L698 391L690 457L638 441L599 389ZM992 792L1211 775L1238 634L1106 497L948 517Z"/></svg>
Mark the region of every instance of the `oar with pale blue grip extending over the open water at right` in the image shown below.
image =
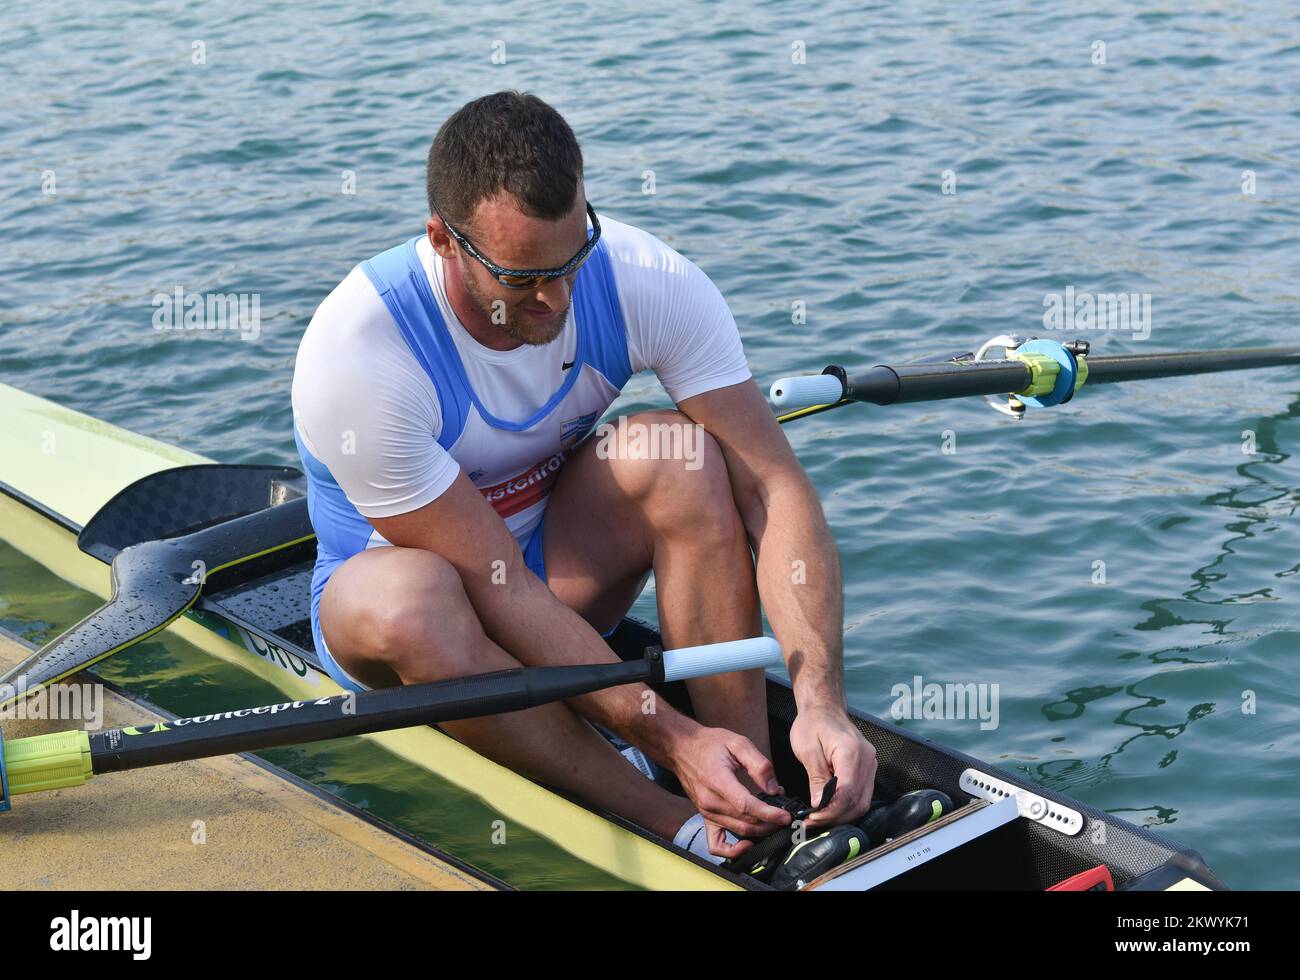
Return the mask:
<svg viewBox="0 0 1300 980"><path fill-rule="evenodd" d="M1086 382L1096 385L1300 365L1300 347L1089 357L1088 344L1078 341L1062 344L1004 337L991 341L985 348L989 346L1005 347L1006 359L985 361L976 355L965 355L942 363L878 364L858 374L832 365L822 374L774 382L770 399L774 407L785 409L777 416L781 422L827 412L850 402L890 406L968 395L1008 395L1008 406L997 407L1020 417L1026 406L1048 407L1069 402Z"/></svg>

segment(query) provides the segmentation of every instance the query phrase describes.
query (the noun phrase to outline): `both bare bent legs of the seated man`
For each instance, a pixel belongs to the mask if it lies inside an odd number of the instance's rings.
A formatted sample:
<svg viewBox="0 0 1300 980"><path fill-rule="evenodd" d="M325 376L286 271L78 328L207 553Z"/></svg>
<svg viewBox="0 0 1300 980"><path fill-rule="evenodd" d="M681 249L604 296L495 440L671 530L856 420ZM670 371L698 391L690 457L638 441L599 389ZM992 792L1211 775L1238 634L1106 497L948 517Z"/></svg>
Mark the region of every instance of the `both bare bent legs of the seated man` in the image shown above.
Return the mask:
<svg viewBox="0 0 1300 980"><path fill-rule="evenodd" d="M676 412L641 421L689 424ZM703 465L599 459L589 442L564 465L547 506L545 559L556 597L601 630L615 625L655 572L667 646L758 636L757 586L722 452ZM369 686L517 667L478 624L459 576L430 552L372 548L348 559L321 598L330 652ZM697 719L771 754L762 671L689 682ZM671 837L694 812L641 776L567 704L450 723L497 762Z"/></svg>

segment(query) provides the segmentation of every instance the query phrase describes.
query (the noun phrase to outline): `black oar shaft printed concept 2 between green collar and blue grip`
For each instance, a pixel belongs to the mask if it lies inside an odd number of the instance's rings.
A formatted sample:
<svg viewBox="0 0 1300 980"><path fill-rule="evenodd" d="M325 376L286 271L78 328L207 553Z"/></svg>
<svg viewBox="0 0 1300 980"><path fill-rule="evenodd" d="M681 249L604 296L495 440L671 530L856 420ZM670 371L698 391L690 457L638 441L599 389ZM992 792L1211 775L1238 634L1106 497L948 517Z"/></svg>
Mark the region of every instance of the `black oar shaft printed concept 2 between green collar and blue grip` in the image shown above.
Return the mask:
<svg viewBox="0 0 1300 980"><path fill-rule="evenodd" d="M575 667L516 667L358 695L338 694L318 701L199 715L92 734L91 768L95 773L139 769L321 738L499 715L619 684L655 682L662 676L658 658Z"/></svg>

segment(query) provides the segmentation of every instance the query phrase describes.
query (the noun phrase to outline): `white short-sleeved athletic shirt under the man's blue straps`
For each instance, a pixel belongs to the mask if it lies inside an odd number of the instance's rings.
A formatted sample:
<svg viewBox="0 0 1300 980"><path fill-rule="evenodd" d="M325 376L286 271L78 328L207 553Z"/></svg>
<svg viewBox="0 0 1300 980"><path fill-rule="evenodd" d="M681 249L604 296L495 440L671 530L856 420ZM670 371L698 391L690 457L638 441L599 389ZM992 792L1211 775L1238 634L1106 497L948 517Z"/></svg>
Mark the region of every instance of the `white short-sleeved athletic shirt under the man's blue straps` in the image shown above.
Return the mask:
<svg viewBox="0 0 1300 980"><path fill-rule="evenodd" d="M601 226L632 372L655 372L673 402L749 380L736 321L712 281L641 229L606 216ZM478 403L506 420L537 412L564 383L564 365L575 360L576 304L552 343L490 350L469 335L447 302L443 261L428 237L415 248ZM603 385L606 407L618 395L618 389L595 372L584 372L580 383ZM515 502L511 498L525 480L554 476L528 471L555 452L554 433L502 432L471 412L455 446L450 452L443 448L438 443L443 419L437 386L361 265L326 296L303 335L292 407L302 447L328 468L347 502L365 517L419 509L465 469L521 545L541 521L549 478L538 493L523 491ZM578 426L581 434L593 420L572 421L586 422L585 429ZM508 464L504 480L485 486L484 474L502 455L524 469L514 471ZM555 458L554 468L562 458ZM317 525L325 543L320 521ZM370 529L365 547L385 543Z"/></svg>

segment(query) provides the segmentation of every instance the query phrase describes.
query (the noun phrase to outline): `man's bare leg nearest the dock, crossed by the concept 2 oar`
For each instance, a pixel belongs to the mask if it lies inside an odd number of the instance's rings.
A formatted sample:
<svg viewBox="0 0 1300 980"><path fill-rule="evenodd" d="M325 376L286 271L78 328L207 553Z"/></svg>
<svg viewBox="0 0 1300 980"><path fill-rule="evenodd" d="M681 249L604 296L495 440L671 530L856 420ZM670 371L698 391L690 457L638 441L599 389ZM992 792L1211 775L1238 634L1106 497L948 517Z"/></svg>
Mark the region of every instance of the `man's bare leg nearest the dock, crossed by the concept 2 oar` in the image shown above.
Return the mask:
<svg viewBox="0 0 1300 980"><path fill-rule="evenodd" d="M373 688L519 667L482 630L455 569L419 548L354 555L321 597L334 659ZM568 704L442 725L458 741L541 782L672 838L692 803L642 776Z"/></svg>

